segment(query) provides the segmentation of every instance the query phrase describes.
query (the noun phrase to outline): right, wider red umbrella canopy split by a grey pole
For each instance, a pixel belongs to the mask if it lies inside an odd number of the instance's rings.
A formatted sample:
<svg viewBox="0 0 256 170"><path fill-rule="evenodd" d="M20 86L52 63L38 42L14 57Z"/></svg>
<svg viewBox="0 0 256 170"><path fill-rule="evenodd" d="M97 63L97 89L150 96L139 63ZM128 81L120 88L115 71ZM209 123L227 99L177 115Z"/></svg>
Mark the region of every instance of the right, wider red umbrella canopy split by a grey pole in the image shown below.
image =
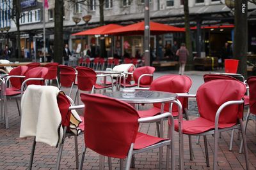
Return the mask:
<svg viewBox="0 0 256 170"><path fill-rule="evenodd" d="M105 34L129 34L129 35L141 35L144 34L144 22L138 22L136 24L127 25L118 29L114 29ZM150 22L150 34L166 34L170 32L184 32L184 29L179 27L173 27L171 25L159 24L157 22Z"/></svg>

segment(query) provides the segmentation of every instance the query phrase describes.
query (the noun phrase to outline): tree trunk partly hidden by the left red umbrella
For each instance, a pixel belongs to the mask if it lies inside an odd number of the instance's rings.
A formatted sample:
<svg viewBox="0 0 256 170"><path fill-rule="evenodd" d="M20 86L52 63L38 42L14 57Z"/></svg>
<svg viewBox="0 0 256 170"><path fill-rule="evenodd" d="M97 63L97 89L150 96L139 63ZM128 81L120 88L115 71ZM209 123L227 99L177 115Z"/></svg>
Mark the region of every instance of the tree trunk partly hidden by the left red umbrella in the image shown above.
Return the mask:
<svg viewBox="0 0 256 170"><path fill-rule="evenodd" d="M99 0L100 26L104 25L104 0ZM106 57L106 46L104 35L100 36L100 57Z"/></svg>

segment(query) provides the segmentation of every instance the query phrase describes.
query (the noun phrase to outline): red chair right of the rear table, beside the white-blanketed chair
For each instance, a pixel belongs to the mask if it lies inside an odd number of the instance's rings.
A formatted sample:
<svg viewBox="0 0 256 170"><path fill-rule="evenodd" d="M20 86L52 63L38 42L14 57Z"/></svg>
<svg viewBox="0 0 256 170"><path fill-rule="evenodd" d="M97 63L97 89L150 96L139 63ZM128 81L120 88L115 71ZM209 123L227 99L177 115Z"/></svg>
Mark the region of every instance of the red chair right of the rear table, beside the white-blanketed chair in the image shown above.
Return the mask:
<svg viewBox="0 0 256 170"><path fill-rule="evenodd" d="M150 87L150 84L153 81L153 74L155 71L155 67L150 66L143 66L138 67L134 70L132 73L132 76L134 78L134 83L120 83L120 85L124 88L126 87Z"/></svg>

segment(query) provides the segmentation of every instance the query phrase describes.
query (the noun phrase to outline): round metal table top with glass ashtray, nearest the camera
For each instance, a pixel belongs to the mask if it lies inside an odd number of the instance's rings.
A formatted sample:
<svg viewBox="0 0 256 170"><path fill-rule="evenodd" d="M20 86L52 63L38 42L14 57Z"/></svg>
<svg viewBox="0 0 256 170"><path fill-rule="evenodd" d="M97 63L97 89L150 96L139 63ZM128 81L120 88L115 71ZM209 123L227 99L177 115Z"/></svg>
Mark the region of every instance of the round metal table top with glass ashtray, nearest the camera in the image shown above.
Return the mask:
<svg viewBox="0 0 256 170"><path fill-rule="evenodd" d="M136 103L165 103L169 101L173 101L177 99L177 94L170 92L159 92L159 91L144 91L144 92L152 92L149 96L136 96L136 93L143 92L144 90L138 90L135 92L134 97L123 97L123 92L106 92L103 95L108 97L113 97L120 101L124 101L126 103L136 104Z"/></svg>

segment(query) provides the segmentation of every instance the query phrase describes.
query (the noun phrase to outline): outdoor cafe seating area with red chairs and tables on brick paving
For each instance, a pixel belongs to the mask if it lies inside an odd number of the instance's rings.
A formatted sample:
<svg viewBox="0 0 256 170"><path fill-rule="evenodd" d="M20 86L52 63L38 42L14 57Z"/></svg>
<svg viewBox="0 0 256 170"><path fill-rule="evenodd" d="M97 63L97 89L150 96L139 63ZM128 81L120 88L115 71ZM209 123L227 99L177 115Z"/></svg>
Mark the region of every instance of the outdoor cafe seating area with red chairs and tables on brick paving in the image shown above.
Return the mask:
<svg viewBox="0 0 256 170"><path fill-rule="evenodd" d="M0 169L256 167L255 77L205 74L190 94L190 76L154 78L155 67L114 60L89 66L31 63L0 76Z"/></svg>

